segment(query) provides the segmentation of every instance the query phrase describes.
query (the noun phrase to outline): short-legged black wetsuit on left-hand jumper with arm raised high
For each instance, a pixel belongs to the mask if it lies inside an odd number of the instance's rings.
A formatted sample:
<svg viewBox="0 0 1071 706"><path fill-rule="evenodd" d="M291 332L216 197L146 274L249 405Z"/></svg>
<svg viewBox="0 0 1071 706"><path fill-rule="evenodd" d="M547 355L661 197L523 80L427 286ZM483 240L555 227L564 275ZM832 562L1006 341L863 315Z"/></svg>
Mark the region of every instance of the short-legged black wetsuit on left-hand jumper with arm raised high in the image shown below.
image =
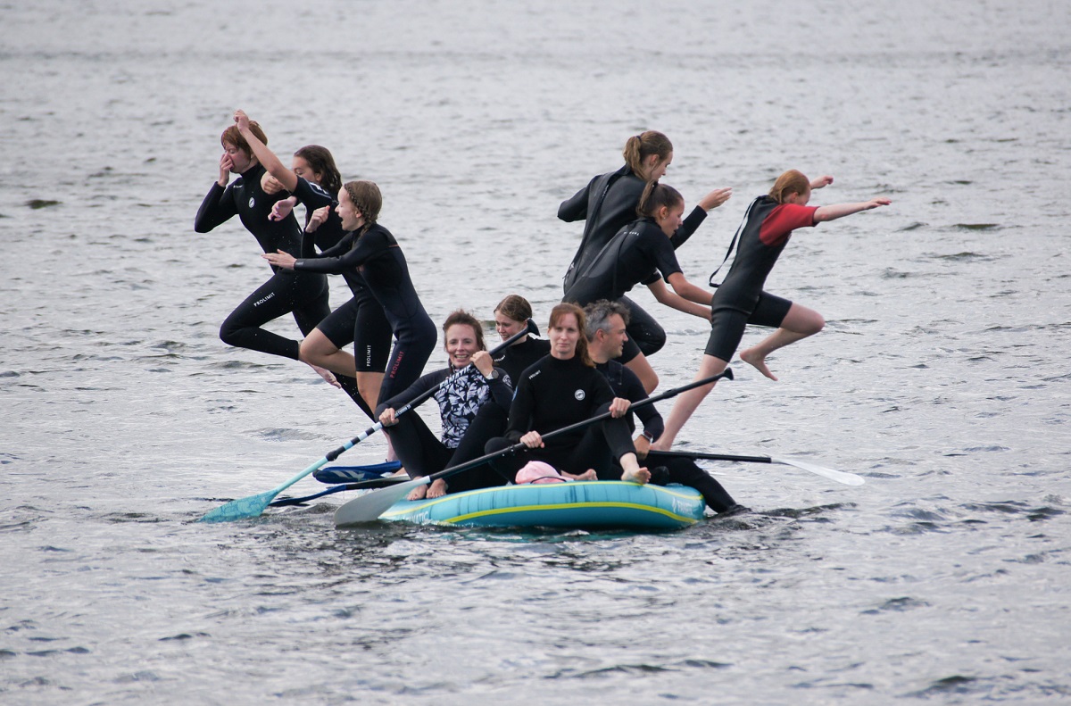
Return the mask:
<svg viewBox="0 0 1071 706"><path fill-rule="evenodd" d="M331 209L328 220L312 234L305 232L301 245L303 258L316 257L313 241L321 251L328 251L346 237L346 231L342 227L342 219L338 217L334 208L337 202L330 194L299 177L293 195L305 206L306 226L313 211L323 206ZM337 315L333 315L330 320L320 321L320 326L317 328L338 348L344 348L350 343L353 344L353 361L357 363L357 372L382 373L387 370L387 359L391 352L391 339L393 337L391 324L360 270L346 270L342 276L349 285L350 291L353 292L353 298L338 307L344 310L343 314L336 312Z"/></svg>

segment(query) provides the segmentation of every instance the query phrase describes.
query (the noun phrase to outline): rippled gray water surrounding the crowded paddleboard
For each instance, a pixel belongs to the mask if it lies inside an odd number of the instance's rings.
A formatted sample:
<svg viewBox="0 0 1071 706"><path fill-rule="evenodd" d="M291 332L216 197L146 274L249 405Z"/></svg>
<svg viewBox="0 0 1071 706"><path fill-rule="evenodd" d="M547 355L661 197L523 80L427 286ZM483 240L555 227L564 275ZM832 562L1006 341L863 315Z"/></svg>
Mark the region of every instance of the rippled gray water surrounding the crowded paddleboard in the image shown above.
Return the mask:
<svg viewBox="0 0 1071 706"><path fill-rule="evenodd" d="M1068 703L1069 30L1031 0L0 4L0 702ZM826 330L679 437L866 484L710 464L754 511L660 535L340 531L338 495L194 523L367 424L217 339L267 276L237 221L192 228L239 107L380 184L436 320L518 291L543 322L558 202L645 129L690 202L735 190L695 282L784 169L889 196L797 234L768 288ZM704 326L636 298L689 381Z"/></svg>

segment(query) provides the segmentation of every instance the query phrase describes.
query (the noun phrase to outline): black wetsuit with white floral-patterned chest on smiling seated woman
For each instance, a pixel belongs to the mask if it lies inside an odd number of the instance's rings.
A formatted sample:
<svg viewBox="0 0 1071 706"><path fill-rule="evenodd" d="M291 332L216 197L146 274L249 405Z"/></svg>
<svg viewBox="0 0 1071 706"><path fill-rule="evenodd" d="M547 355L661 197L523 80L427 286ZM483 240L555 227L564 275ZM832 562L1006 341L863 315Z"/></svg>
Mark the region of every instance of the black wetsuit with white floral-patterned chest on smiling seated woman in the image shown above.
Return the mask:
<svg viewBox="0 0 1071 706"><path fill-rule="evenodd" d="M421 394L439 387L454 372L452 367L444 367L420 377L381 403L376 414L381 415L388 407L401 409ZM435 437L416 409L398 417L397 424L384 427L398 461L413 478L429 476L483 455L487 441L506 431L506 415L513 388L501 369L496 369L495 377L488 380L473 365L434 396L439 403L441 438ZM457 493L502 485L506 479L484 465L450 476L446 482L451 493Z"/></svg>

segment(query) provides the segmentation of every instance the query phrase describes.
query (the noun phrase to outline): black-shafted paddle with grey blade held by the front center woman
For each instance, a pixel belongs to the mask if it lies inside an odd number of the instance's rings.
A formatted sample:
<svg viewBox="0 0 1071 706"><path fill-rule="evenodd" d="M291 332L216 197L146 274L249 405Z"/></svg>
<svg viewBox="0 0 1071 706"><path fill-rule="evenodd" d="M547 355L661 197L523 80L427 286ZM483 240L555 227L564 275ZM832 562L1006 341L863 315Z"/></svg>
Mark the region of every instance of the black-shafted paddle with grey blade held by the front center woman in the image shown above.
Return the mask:
<svg viewBox="0 0 1071 706"><path fill-rule="evenodd" d="M630 409L635 409L636 407L642 407L644 405L649 405L660 400L668 400L674 397L681 392L691 390L692 388L703 387L704 385L710 385L715 382L721 378L727 380L733 379L733 369L726 367L719 375L708 377L703 380L695 380L694 382L689 382L688 385L675 388L673 390L666 390L662 394L655 395L653 397L647 397L639 402L635 402L630 406ZM601 422L610 418L610 412L606 411L601 415L597 415L591 419L585 419L584 421L576 422L575 424L570 424L569 426L562 426L553 432L547 432L543 434L544 439L549 439L555 436L560 436L562 434L569 434L570 432L575 432L577 430L594 424L595 422ZM367 495L362 495L359 498L355 498L342 506L335 511L335 527L349 527L351 525L359 525L364 522L373 522L379 517L379 515L387 512L388 509L405 496L409 495L410 491L414 487L421 485L427 485L438 478L446 478L447 476L453 476L454 474L459 474L463 470L468 470L470 468L476 468L477 466L483 465L491 461L492 459L497 459L499 456L504 456L509 453L516 453L527 449L524 444L514 444L513 446L507 447L500 451L495 451L494 453L488 453L480 456L479 459L473 459L472 461L466 461L463 464L452 466L451 468L446 468L437 474L432 474L431 476L422 476L420 478L414 478L406 483L399 483L375 493L368 493Z"/></svg>

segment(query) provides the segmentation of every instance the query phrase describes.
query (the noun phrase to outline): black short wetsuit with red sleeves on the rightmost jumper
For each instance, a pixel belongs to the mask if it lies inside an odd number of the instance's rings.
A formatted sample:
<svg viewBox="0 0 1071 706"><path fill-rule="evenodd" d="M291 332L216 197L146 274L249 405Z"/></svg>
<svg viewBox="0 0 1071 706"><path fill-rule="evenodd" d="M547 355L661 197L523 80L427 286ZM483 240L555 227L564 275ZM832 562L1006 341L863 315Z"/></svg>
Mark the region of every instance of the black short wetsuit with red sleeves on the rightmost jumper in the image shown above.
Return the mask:
<svg viewBox="0 0 1071 706"><path fill-rule="evenodd" d="M759 196L744 214L737 254L711 302L710 339L705 352L728 362L748 324L779 327L793 302L763 291L794 228L814 226L814 206L779 205Z"/></svg>

